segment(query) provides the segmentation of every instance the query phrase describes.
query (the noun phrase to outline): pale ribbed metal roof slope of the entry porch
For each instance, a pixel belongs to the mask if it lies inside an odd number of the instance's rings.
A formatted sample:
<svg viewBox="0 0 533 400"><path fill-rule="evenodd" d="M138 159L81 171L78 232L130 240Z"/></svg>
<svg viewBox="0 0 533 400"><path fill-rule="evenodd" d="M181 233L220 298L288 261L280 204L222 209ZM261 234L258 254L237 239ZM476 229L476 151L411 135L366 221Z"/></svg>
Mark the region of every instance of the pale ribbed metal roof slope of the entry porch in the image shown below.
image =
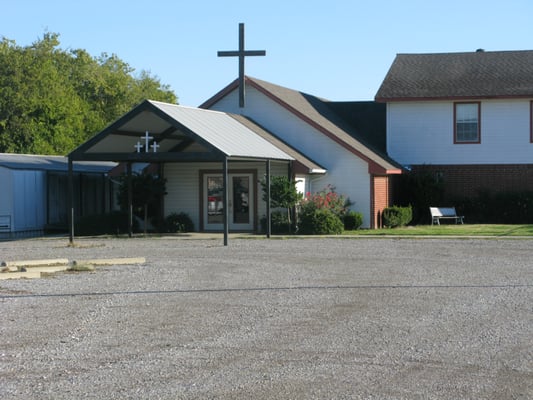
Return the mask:
<svg viewBox="0 0 533 400"><path fill-rule="evenodd" d="M227 113L149 101L228 157L294 160Z"/></svg>

